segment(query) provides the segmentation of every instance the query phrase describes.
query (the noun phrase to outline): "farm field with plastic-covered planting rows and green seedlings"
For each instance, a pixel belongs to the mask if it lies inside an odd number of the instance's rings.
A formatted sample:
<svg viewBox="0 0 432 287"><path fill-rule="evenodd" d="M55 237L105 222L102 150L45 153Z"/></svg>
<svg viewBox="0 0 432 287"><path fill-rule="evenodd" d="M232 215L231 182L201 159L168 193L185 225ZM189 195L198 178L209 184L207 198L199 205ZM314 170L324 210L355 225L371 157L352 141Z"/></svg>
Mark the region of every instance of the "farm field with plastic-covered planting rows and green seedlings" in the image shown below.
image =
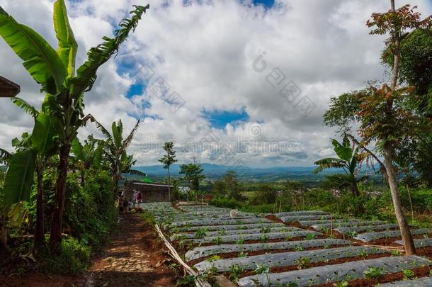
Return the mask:
<svg viewBox="0 0 432 287"><path fill-rule="evenodd" d="M423 256L404 256L397 225L382 221L320 210L234 215L198 204L142 208L204 281L222 275L232 286L432 286L432 230L412 227Z"/></svg>

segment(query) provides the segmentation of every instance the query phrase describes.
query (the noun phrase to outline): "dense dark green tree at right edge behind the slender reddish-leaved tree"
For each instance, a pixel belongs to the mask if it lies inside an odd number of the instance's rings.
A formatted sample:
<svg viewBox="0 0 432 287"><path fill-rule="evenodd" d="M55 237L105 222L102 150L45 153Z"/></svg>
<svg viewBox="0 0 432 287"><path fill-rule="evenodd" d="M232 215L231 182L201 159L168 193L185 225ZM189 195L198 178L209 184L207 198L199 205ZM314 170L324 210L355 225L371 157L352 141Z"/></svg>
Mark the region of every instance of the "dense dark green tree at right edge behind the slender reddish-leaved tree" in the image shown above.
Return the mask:
<svg viewBox="0 0 432 287"><path fill-rule="evenodd" d="M404 35L400 45L399 81L415 87L407 106L421 115L424 129L405 140L397 154L397 162L404 169L419 172L420 179L432 186L432 29L419 28ZM382 52L388 67L394 64L389 48Z"/></svg>

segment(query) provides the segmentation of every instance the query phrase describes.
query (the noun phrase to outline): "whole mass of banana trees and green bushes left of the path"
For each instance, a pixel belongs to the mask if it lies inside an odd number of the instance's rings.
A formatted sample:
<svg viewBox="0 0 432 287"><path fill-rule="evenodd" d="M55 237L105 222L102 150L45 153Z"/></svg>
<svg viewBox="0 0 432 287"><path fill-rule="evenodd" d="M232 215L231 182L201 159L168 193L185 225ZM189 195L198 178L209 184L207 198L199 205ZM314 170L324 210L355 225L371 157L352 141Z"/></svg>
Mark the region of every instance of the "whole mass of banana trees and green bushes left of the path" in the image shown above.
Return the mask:
<svg viewBox="0 0 432 287"><path fill-rule="evenodd" d="M63 0L55 1L53 9L57 50L0 7L1 37L23 60L23 66L45 94L40 108L23 99L12 99L33 117L34 126L31 134L23 133L21 139L12 140L12 154L0 150L0 162L7 165L6 174L3 167L0 170L2 243L7 249L6 228L11 228L12 237L33 233L34 243L22 246L30 252L36 249L41 269L83 271L89 264L90 252L101 246L115 222L115 176L133 164L125 148L137 126L123 142L121 121L113 128L113 137L106 141L90 136L81 145L76 135L79 128L95 120L84 114L84 94L96 81L98 68L118 52L148 8L135 6L131 18L119 23L114 37L104 37L103 43L91 48L87 60L76 69L77 44ZM113 150L117 152L115 157ZM115 174L113 181L108 166ZM47 225L51 225L49 237L45 236ZM67 234L65 240L63 233Z"/></svg>

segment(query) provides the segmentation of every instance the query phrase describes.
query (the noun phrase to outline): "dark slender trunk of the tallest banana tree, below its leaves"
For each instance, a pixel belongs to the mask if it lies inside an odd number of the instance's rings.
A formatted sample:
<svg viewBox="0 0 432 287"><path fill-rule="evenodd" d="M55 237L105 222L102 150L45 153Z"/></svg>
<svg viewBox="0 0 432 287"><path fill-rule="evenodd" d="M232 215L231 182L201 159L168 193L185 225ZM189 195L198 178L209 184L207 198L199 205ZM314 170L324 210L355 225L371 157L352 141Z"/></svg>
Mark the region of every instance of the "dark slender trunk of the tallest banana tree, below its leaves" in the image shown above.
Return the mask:
<svg viewBox="0 0 432 287"><path fill-rule="evenodd" d="M71 145L64 144L60 147L60 162L57 167L56 203L52 215L50 246L53 251L58 251L62 242L62 220L64 211L64 197L66 195L67 169Z"/></svg>

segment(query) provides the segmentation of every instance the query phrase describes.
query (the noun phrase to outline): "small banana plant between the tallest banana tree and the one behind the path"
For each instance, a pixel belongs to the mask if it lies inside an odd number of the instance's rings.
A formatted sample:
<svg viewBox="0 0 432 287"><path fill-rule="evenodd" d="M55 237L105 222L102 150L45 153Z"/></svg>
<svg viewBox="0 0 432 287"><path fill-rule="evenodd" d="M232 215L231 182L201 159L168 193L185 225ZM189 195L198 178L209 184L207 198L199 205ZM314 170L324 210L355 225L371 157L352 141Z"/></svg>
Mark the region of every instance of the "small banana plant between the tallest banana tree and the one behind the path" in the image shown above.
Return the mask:
<svg viewBox="0 0 432 287"><path fill-rule="evenodd" d="M81 145L77 137L72 141L72 153L74 154L72 165L79 170L81 186L84 186L86 182L85 171L87 169L101 167L102 149L103 140L96 140L93 135L89 135L84 140L84 145Z"/></svg>

